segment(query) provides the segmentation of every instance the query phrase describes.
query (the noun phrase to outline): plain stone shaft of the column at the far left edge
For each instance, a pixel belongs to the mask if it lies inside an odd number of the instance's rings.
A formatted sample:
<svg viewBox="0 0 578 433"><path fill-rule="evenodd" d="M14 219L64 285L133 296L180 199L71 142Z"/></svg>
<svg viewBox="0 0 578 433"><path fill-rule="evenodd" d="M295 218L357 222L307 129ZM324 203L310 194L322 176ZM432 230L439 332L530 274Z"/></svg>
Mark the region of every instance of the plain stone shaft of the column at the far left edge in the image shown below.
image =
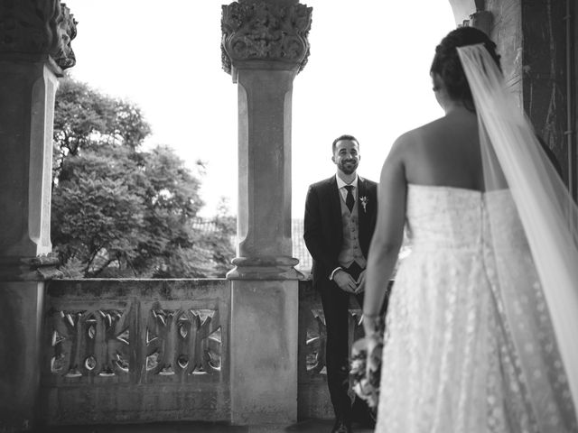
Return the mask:
<svg viewBox="0 0 578 433"><path fill-rule="evenodd" d="M54 96L44 62L0 61L0 257L51 252Z"/></svg>

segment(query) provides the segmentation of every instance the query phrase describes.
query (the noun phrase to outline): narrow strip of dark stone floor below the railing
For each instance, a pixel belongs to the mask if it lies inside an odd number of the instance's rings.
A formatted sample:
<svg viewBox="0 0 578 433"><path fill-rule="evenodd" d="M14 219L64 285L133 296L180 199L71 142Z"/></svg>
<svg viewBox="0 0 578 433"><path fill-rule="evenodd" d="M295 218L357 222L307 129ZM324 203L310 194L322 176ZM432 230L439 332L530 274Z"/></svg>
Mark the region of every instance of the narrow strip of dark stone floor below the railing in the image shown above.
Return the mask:
<svg viewBox="0 0 578 433"><path fill-rule="evenodd" d="M238 427L207 422L173 422L151 424L59 426L42 428L42 433L330 433L331 420L309 419L288 427ZM355 428L354 433L372 433L369 428Z"/></svg>

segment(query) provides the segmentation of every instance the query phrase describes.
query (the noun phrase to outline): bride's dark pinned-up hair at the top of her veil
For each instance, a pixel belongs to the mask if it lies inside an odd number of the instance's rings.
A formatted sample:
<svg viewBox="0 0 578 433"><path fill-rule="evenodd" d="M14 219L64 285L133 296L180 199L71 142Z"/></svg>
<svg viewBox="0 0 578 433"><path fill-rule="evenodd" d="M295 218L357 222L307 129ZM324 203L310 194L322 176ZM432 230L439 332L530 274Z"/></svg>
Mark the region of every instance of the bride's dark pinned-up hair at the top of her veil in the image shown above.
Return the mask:
<svg viewBox="0 0 578 433"><path fill-rule="evenodd" d="M501 70L499 65L499 54L496 52L496 44L491 41L488 35L475 27L460 27L443 38L440 44L435 47L430 74L438 74L443 80L448 95L457 101L461 101L471 111L474 110L468 79L461 67L460 57L456 48L465 45L483 43L489 51L492 59Z"/></svg>

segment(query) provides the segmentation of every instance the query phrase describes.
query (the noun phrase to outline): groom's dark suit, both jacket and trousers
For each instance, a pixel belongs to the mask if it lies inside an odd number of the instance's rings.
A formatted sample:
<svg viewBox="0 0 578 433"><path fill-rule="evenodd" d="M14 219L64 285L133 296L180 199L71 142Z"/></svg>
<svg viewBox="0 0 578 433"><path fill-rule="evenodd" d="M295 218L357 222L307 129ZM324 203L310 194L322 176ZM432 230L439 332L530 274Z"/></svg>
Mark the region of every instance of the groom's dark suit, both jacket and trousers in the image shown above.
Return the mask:
<svg viewBox="0 0 578 433"><path fill-rule="evenodd" d="M355 205L348 213L336 177L331 176L330 179L310 186L305 201L303 237L313 259L313 288L319 290L322 296L327 327L327 380L338 419L351 417L351 401L348 396L350 293L341 290L330 280L331 272L341 268L357 280L365 268L371 236L376 226L377 190L375 182L358 177ZM350 248L349 257L354 259L350 266L346 266L349 263L344 264L343 258L347 256L347 253L343 253L344 248ZM363 305L362 295L355 296L359 304Z"/></svg>

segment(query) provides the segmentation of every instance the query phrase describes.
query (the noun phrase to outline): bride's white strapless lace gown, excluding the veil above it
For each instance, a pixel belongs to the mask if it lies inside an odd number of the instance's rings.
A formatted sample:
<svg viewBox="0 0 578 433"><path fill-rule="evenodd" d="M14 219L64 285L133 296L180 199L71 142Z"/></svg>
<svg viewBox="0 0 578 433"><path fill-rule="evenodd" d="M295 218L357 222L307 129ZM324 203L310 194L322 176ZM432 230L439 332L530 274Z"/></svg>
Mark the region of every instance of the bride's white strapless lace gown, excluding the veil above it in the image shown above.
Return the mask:
<svg viewBox="0 0 578 433"><path fill-rule="evenodd" d="M388 308L376 431L578 431L509 190L409 185L406 206L412 253Z"/></svg>

